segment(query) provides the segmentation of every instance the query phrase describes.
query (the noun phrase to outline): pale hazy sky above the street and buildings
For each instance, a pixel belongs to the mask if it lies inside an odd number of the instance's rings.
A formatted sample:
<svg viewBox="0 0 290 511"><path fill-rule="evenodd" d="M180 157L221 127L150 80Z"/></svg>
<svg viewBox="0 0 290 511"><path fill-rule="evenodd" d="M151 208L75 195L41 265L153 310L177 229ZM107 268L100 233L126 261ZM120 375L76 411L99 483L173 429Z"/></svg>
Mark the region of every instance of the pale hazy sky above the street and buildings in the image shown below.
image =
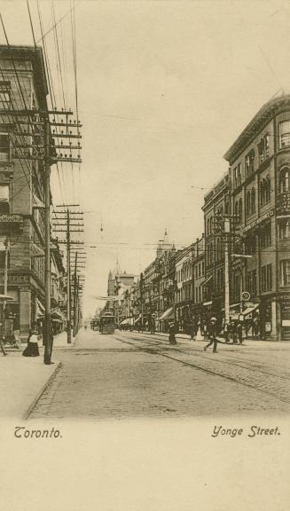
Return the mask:
<svg viewBox="0 0 290 511"><path fill-rule="evenodd" d="M37 41L37 3L29 6ZM117 259L139 274L165 228L176 248L201 236L204 194L228 168L223 154L265 102L289 91L290 4L55 0L74 109L72 6L82 166L65 164L60 177L52 169L51 188L55 203L84 211L87 315ZM52 3L39 7L62 105ZM0 9L9 43L33 44L27 3L1 0Z"/></svg>

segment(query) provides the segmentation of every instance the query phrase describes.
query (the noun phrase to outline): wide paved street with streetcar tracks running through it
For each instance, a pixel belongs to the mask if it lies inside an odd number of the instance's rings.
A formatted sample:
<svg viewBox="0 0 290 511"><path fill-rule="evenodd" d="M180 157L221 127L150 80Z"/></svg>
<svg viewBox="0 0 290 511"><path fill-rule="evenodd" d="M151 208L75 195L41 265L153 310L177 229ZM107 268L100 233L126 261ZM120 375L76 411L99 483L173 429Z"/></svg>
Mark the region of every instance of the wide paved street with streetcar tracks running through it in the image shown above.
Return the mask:
<svg viewBox="0 0 290 511"><path fill-rule="evenodd" d="M290 413L288 343L219 344L160 334L82 331L31 418L248 416Z"/></svg>

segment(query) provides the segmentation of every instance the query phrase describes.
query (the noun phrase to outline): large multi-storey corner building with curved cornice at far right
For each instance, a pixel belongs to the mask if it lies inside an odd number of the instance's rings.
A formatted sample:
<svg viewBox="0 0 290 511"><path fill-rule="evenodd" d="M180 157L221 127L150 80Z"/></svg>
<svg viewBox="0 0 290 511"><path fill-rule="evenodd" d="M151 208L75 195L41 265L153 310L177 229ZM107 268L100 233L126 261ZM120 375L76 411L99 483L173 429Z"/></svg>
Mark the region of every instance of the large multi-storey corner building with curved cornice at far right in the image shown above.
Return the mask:
<svg viewBox="0 0 290 511"><path fill-rule="evenodd" d="M266 103L224 158L238 219L235 252L247 255L231 263L231 302L247 291L262 338L289 340L290 95Z"/></svg>

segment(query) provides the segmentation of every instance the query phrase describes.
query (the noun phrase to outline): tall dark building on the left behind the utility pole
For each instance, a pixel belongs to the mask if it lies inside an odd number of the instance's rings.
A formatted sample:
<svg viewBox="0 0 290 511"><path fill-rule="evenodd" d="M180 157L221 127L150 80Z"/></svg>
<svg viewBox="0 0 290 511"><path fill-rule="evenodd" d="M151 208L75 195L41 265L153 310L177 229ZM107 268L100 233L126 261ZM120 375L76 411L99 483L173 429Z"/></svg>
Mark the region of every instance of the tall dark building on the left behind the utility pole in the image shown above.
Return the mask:
<svg viewBox="0 0 290 511"><path fill-rule="evenodd" d="M43 133L25 111L46 111L47 93L42 49L0 46L0 229L10 242L9 308L21 335L43 314L44 303L43 161L22 156ZM39 119L35 113L34 122ZM3 257L0 278L4 283Z"/></svg>

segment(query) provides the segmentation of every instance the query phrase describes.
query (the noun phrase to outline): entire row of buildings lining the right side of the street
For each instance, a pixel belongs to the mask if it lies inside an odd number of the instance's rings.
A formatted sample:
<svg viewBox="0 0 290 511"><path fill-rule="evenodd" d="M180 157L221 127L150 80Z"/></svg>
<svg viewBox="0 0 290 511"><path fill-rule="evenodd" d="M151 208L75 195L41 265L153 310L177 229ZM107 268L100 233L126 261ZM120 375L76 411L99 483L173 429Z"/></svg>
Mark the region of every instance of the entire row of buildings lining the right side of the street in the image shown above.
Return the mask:
<svg viewBox="0 0 290 511"><path fill-rule="evenodd" d="M231 320L255 319L262 338L290 339L290 95L266 103L224 158L229 169L205 196L201 238L176 250L165 232L137 281L111 274L109 295L127 287L114 304L119 324L165 330L174 318L186 330L212 314L223 324L227 244Z"/></svg>

